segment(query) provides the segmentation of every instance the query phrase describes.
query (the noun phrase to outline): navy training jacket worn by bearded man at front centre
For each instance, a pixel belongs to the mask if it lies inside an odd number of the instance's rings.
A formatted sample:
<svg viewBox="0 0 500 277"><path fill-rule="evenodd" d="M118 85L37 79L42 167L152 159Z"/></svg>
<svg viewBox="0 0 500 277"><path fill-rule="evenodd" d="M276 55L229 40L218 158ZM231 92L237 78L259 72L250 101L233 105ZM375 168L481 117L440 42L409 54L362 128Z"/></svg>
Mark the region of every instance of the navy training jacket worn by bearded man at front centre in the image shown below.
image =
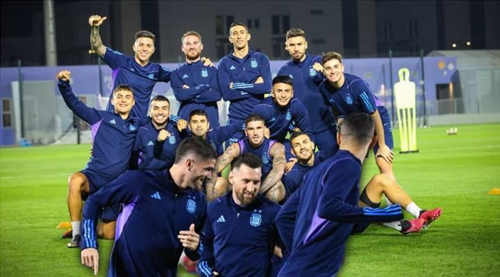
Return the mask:
<svg viewBox="0 0 500 277"><path fill-rule="evenodd" d="M210 203L199 274L269 276L274 245L280 244L274 224L279 208L262 195L248 206L239 206L232 191Z"/></svg>

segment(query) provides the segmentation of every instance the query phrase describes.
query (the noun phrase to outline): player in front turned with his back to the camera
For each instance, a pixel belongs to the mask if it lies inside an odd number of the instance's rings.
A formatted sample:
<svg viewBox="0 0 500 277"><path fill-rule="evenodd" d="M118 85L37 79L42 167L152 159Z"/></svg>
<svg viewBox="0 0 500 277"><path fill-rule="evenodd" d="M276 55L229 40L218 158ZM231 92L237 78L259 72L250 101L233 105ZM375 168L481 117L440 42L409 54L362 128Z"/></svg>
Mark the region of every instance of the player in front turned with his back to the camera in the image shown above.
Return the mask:
<svg viewBox="0 0 500 277"><path fill-rule="evenodd" d="M361 165L373 141L370 116L349 114L339 130L340 150L319 163L281 208L276 226L291 249L278 276L335 276L354 222L401 220L401 206L359 208Z"/></svg>

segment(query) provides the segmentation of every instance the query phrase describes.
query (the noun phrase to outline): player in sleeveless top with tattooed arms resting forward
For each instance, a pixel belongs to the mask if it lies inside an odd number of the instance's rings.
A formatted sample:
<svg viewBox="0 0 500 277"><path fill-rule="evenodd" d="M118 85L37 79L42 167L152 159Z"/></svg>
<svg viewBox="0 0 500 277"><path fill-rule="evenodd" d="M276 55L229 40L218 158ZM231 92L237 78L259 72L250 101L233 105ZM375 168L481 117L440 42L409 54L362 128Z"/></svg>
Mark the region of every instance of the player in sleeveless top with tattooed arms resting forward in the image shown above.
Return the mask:
<svg viewBox="0 0 500 277"><path fill-rule="evenodd" d="M265 120L262 116L251 114L245 120L245 126L247 137L229 145L224 154L217 158L212 179L206 184L207 199L211 201L226 193L228 181L224 177L217 178L217 174L241 154L251 153L260 157L263 163L260 193L273 202L281 202L285 197L285 187L281 182L285 172L285 148L283 144L265 138Z"/></svg>

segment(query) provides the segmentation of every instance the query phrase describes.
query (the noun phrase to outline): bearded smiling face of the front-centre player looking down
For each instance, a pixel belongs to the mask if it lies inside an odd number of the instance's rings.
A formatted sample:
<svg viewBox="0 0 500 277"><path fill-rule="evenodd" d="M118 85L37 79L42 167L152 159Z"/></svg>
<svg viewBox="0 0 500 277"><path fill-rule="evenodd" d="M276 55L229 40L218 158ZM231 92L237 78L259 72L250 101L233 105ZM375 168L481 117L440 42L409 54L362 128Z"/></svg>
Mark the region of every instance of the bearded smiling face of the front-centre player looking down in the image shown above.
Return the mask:
<svg viewBox="0 0 500 277"><path fill-rule="evenodd" d="M257 197L260 189L260 168L250 168L242 164L229 172L229 182L233 184L233 199L236 204L247 206Z"/></svg>

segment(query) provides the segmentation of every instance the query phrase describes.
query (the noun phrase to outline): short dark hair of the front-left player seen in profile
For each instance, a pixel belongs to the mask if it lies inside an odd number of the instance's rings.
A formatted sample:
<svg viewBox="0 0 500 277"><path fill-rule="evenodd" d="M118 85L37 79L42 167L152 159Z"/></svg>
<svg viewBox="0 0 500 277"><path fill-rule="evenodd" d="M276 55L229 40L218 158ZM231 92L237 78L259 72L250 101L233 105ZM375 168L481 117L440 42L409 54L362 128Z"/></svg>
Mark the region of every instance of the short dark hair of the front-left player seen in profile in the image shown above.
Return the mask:
<svg viewBox="0 0 500 277"><path fill-rule="evenodd" d="M200 157L203 161L217 159L217 153L215 153L210 143L204 139L190 136L188 139L181 141L177 146L174 163L182 161L184 157L190 153L197 155L197 157Z"/></svg>

